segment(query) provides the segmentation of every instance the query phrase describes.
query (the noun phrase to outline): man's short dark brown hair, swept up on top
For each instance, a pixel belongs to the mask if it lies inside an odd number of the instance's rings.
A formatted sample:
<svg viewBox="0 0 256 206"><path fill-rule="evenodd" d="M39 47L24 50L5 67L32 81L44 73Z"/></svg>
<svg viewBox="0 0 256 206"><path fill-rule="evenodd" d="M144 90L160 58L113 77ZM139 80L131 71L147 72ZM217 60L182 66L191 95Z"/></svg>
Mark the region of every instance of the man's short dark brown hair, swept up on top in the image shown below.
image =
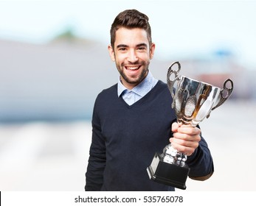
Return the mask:
<svg viewBox="0 0 256 206"><path fill-rule="evenodd" d="M151 45L151 25L148 23L148 16L144 13L140 13L138 10L124 10L117 15L110 30L111 46L113 49L117 29L120 29L121 27L125 27L127 29L145 29L148 35L148 42Z"/></svg>

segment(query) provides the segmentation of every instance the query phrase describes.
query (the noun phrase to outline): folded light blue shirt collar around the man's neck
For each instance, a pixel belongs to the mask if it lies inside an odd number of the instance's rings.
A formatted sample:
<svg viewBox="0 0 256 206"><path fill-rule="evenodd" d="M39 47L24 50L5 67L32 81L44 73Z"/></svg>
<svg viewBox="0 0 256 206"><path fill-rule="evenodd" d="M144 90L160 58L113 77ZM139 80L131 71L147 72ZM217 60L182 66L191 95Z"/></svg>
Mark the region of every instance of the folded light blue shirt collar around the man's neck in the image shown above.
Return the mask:
<svg viewBox="0 0 256 206"><path fill-rule="evenodd" d="M156 81L156 79L151 74L151 71L148 71L147 77L145 77L145 79L143 79L142 82L140 82L139 85L136 85L136 87L134 87L131 91L133 91L134 93L136 93L139 96L145 96L145 94L148 93L148 91L150 91L151 88L153 88L153 86L155 85L154 84L155 81ZM125 90L128 90L128 89L125 88L124 85L122 85L120 78L119 78L118 83L117 83L118 97L120 97Z"/></svg>

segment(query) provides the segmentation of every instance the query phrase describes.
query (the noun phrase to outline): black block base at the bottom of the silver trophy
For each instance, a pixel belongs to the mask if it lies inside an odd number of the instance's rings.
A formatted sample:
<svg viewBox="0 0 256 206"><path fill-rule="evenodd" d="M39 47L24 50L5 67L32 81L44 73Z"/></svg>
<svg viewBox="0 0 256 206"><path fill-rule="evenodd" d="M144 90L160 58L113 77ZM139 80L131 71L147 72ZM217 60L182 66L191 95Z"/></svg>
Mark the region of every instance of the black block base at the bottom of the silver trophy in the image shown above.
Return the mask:
<svg viewBox="0 0 256 206"><path fill-rule="evenodd" d="M165 185L173 186L185 190L187 176L190 168L185 164L179 166L176 164L165 163L159 154L153 157L151 166L147 168L148 176L151 180Z"/></svg>

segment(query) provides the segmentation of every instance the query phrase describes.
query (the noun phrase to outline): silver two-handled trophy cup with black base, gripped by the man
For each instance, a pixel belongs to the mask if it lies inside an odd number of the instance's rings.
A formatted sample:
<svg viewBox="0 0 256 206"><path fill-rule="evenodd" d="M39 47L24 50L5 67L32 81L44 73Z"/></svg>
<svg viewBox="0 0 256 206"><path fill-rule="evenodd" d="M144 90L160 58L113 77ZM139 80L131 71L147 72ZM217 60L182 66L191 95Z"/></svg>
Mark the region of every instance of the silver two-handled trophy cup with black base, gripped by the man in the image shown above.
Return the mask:
<svg viewBox="0 0 256 206"><path fill-rule="evenodd" d="M178 65L178 70L174 70L173 65ZM173 97L172 107L178 122L196 127L204 118L209 118L212 110L229 99L233 82L231 79L226 79L224 88L221 89L184 76L179 77L180 69L180 63L175 62L167 71L167 85ZM173 77L173 80L170 80L170 77ZM228 88L227 84L231 85L231 88ZM185 182L190 172L186 160L186 154L177 151L169 144L165 146L162 154L154 155L151 166L147 168L148 176L155 182L185 190Z"/></svg>

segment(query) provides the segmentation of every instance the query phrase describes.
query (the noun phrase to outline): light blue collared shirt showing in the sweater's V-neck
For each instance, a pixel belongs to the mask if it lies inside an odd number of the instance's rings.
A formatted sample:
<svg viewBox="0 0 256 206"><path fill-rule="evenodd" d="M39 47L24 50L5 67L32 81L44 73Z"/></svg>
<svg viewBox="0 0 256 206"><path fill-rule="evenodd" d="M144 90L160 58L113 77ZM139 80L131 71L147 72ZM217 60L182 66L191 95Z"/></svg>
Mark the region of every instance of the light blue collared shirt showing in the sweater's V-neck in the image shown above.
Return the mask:
<svg viewBox="0 0 256 206"><path fill-rule="evenodd" d="M139 85L136 85L132 90L128 90L124 85L122 85L119 78L117 84L117 95L118 97L122 96L122 99L124 99L128 105L131 105L139 99L142 99L142 97L145 96L157 82L158 80L153 77L151 71L148 71L147 77L145 77Z"/></svg>

